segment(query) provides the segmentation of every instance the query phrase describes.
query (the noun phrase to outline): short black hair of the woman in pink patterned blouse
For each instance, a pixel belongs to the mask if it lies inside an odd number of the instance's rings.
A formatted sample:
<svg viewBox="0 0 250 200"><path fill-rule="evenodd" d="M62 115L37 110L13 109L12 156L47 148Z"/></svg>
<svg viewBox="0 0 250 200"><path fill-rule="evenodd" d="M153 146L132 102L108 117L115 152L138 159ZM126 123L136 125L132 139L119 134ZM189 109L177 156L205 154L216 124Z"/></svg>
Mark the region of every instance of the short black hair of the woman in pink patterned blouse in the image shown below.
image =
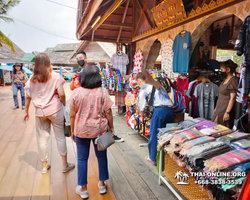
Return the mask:
<svg viewBox="0 0 250 200"><path fill-rule="evenodd" d="M87 66L82 69L79 83L83 88L94 89L102 86L102 77L97 66Z"/></svg>

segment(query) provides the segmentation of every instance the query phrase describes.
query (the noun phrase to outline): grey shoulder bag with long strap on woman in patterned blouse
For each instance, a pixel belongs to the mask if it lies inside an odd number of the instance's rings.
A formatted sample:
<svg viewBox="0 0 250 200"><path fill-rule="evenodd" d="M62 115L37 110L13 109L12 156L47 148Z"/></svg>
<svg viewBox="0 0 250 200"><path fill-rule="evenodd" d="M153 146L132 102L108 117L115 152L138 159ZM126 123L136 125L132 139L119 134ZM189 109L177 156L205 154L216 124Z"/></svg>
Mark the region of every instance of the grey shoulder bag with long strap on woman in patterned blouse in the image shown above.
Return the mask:
<svg viewBox="0 0 250 200"><path fill-rule="evenodd" d="M99 124L99 135L95 140L98 151L105 151L108 147L115 143L111 131L107 131L101 135L101 123L102 123L102 105L103 105L103 87L102 88L102 98L101 98L101 112L100 112L100 124Z"/></svg>

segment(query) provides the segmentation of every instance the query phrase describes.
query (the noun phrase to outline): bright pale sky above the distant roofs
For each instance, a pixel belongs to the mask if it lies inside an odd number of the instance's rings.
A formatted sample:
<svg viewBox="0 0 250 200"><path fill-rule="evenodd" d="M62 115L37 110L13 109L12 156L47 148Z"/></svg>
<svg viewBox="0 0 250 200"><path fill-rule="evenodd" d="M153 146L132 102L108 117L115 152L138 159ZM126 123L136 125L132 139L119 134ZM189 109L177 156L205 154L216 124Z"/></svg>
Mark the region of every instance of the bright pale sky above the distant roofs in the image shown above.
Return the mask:
<svg viewBox="0 0 250 200"><path fill-rule="evenodd" d="M77 8L78 0L51 0ZM1 22L1 31L26 53L43 52L57 44L77 43L76 16L77 10L64 7L49 0L21 0L9 12L14 23ZM59 35L61 38L29 27L19 21L35 26L46 32Z"/></svg>

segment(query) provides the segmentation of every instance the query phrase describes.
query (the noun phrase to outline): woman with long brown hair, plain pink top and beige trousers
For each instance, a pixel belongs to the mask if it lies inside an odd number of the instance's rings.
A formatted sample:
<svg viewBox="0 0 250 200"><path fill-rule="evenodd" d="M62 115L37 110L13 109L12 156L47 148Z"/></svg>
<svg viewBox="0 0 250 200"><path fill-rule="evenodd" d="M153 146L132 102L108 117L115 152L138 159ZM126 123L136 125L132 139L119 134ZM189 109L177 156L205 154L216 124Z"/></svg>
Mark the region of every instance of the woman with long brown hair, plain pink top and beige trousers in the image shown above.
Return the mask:
<svg viewBox="0 0 250 200"><path fill-rule="evenodd" d="M67 161L67 146L64 135L65 93L63 89L64 79L60 74L52 71L49 57L41 53L35 58L34 74L28 80L26 90L26 115L25 121L29 120L30 103L35 106L36 136L38 152L42 161L42 174L50 169L48 164L51 125L54 130L57 149L62 158L63 173L75 167Z"/></svg>

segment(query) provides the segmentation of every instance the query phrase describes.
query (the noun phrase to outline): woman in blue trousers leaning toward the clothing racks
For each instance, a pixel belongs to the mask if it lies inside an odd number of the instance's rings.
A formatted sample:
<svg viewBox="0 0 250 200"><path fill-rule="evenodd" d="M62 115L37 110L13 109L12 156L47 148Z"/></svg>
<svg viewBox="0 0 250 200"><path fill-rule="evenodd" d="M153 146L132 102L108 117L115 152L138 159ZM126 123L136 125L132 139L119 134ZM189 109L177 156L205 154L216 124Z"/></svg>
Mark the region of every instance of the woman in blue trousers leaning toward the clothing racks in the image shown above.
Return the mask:
<svg viewBox="0 0 250 200"><path fill-rule="evenodd" d="M167 93L163 86L144 69L137 74L136 81L141 87L138 103L141 122L144 122L145 117L152 116L148 141L149 156L145 159L156 165L158 128L164 128L167 123L173 122L173 90Z"/></svg>

